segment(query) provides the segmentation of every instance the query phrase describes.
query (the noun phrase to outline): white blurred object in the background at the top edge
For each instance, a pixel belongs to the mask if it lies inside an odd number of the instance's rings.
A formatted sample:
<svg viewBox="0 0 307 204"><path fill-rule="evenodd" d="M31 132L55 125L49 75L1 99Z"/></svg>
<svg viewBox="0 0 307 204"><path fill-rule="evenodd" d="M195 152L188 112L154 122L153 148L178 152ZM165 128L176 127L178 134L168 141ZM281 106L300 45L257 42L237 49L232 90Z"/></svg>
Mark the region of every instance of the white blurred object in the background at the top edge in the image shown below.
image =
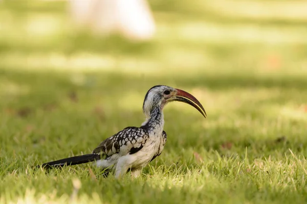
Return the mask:
<svg viewBox="0 0 307 204"><path fill-rule="evenodd" d="M70 11L77 25L100 34L149 40L156 29L145 0L70 0Z"/></svg>

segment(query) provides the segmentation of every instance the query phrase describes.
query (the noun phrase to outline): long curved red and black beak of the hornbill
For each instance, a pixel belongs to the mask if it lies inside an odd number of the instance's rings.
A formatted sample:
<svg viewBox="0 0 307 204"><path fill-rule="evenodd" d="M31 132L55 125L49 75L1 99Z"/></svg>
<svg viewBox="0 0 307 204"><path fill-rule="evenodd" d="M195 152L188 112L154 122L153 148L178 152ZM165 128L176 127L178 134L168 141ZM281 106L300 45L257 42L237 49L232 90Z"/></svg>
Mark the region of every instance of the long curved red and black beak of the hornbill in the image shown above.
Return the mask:
<svg viewBox="0 0 307 204"><path fill-rule="evenodd" d="M203 105L196 99L193 95L186 91L176 89L177 93L169 97L168 101L181 101L183 103L189 104L197 109L204 117L207 116Z"/></svg>

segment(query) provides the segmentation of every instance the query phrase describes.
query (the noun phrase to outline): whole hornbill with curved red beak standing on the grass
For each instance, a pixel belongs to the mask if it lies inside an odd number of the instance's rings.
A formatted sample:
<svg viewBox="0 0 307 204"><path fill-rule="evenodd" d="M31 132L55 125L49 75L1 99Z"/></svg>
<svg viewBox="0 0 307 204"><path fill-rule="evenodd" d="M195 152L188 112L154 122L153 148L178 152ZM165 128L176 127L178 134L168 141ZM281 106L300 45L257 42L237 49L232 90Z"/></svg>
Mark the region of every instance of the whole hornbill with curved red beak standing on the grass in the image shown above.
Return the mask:
<svg viewBox="0 0 307 204"><path fill-rule="evenodd" d="M116 178L125 174L128 170L131 170L131 174L137 177L140 175L142 168L163 151L167 135L163 131L162 109L170 101L187 103L206 117L205 109L198 99L191 94L169 86L154 86L145 95L143 112L146 120L140 127L126 127L102 141L92 154L48 162L42 164L41 167L48 169L95 161L98 167L114 171Z"/></svg>

